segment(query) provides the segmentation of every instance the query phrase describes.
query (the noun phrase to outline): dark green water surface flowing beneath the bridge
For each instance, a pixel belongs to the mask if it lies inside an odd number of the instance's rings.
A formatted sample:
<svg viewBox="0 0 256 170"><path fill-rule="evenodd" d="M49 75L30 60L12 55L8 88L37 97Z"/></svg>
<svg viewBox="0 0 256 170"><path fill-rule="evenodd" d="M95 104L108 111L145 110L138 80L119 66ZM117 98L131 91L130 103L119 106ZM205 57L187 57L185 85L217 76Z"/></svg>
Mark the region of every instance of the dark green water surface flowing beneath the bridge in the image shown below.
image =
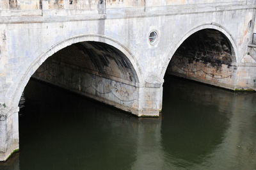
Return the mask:
<svg viewBox="0 0 256 170"><path fill-rule="evenodd" d="M256 93L165 81L159 119L29 81L0 169L256 169Z"/></svg>

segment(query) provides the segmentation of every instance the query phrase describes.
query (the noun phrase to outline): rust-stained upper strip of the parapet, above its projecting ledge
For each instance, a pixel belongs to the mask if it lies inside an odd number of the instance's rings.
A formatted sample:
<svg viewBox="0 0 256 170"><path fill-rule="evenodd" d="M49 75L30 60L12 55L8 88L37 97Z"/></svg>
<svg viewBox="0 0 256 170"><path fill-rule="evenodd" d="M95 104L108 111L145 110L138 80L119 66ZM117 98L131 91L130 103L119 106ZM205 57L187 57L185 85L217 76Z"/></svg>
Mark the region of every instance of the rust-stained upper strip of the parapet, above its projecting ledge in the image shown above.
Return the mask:
<svg viewBox="0 0 256 170"><path fill-rule="evenodd" d="M180 1L180 0L1 0L0 9L10 10L52 10L52 9L76 9L96 10L99 4L106 4L107 8L130 8L150 6L177 6L177 5L202 5L211 4L253 4L254 0L201 0L201 1Z"/></svg>

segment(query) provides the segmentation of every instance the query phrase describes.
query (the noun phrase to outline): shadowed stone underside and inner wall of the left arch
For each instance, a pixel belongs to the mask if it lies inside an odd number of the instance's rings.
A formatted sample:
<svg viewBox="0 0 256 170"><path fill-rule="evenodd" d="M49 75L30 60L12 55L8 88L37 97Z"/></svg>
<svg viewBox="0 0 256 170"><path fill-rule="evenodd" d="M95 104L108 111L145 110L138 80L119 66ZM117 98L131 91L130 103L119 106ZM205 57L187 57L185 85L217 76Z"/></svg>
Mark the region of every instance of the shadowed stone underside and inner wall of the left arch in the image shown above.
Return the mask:
<svg viewBox="0 0 256 170"><path fill-rule="evenodd" d="M33 78L136 114L138 77L131 61L102 42L74 43L56 52Z"/></svg>

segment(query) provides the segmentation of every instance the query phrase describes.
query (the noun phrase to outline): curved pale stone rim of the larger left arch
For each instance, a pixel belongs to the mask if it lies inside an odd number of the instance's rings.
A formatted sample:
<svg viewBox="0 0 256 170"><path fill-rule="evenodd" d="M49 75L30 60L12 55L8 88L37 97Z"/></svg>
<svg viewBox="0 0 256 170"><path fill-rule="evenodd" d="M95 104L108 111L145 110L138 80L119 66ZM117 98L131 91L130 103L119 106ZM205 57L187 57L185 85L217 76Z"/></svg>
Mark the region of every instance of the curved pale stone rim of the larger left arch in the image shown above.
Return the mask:
<svg viewBox="0 0 256 170"><path fill-rule="evenodd" d="M17 102L15 102L15 98L16 98L15 96L18 95L20 98L21 93L24 90L26 84L28 84L28 81L29 81L31 75L33 75L33 73L37 70L37 68L39 68L39 66L42 65L42 63L44 63L44 61L47 58L51 57L54 53L58 52L59 50L64 49L68 45L72 45L74 43L79 43L79 42L89 42L89 41L106 43L108 45L112 45L116 49L123 52L125 54L125 56L127 57L127 59L129 59L129 61L131 62L131 65L136 74L135 76L138 81L138 84L140 84L140 82L142 82L142 74L141 74L140 66L138 65L138 61L136 61L136 58L131 53L131 51L129 49L127 49L127 47L122 45L122 43L119 43L116 40L113 40L113 38L110 38L110 37L104 36L104 35L72 36L70 38L67 38L66 40L55 43L46 52L44 52L44 54L41 54L38 58L36 58L31 63L29 68L26 70L24 75L21 77L19 84L17 85L17 88L15 89L15 92L13 93L12 105L13 106L17 105Z"/></svg>

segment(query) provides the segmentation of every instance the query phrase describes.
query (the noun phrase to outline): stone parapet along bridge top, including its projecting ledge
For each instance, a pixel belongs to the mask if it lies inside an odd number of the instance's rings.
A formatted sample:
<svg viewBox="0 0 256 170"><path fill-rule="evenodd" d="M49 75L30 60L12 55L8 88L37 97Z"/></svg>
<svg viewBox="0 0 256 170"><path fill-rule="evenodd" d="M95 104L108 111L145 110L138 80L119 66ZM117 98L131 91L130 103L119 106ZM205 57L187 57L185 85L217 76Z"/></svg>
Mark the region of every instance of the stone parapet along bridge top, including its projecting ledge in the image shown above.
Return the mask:
<svg viewBox="0 0 256 170"><path fill-rule="evenodd" d="M102 13L136 13L161 12L175 10L180 13L191 9L197 12L220 10L229 6L246 6L255 4L255 0L2 0L0 17L6 16L40 16L40 15L83 15Z"/></svg>

